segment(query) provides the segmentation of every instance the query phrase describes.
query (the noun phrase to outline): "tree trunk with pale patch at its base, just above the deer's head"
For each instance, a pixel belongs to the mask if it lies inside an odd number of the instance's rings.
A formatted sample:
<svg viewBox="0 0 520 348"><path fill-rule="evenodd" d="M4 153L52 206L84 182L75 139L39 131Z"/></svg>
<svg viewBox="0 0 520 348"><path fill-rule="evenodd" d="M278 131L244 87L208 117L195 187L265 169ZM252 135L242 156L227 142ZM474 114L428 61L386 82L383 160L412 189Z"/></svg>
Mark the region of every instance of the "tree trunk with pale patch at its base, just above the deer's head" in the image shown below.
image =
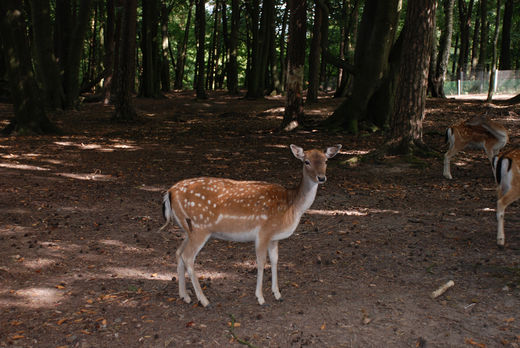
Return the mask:
<svg viewBox="0 0 520 348"><path fill-rule="evenodd" d="M304 123L302 85L305 66L306 2L289 0L287 97L282 121L285 131L291 131Z"/></svg>

